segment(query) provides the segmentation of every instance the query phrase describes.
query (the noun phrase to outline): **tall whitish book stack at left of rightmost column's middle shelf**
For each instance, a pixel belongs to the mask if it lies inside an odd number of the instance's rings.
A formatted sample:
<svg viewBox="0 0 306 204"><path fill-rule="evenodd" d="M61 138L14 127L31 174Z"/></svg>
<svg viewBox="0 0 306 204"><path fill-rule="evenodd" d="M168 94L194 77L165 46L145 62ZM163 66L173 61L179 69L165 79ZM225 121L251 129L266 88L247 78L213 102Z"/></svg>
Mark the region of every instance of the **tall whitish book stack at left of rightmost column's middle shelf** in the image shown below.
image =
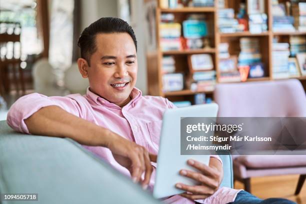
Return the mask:
<svg viewBox="0 0 306 204"><path fill-rule="evenodd" d="M272 45L272 63L273 78L288 78L288 57L290 55L289 43L273 43Z"/></svg>

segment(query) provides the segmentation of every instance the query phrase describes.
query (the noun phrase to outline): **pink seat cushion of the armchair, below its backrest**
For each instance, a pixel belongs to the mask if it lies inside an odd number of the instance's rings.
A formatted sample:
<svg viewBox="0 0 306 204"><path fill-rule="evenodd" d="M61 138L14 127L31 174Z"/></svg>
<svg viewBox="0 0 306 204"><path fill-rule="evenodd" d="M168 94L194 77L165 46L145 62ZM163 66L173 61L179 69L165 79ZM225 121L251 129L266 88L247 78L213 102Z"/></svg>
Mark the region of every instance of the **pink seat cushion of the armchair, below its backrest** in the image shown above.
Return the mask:
<svg viewBox="0 0 306 204"><path fill-rule="evenodd" d="M241 155L234 158L246 168L281 168L306 166L305 155Z"/></svg>

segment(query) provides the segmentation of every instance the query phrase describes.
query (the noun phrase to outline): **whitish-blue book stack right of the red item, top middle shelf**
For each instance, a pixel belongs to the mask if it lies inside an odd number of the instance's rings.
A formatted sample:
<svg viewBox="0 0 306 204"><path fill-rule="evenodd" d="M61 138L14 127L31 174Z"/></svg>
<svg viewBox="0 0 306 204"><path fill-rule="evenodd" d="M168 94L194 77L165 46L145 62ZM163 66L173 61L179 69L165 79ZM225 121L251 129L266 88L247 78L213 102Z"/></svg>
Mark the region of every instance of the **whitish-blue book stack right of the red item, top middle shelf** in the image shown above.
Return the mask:
<svg viewBox="0 0 306 204"><path fill-rule="evenodd" d="M267 31L267 15L265 13L254 13L248 15L248 30L251 33Z"/></svg>

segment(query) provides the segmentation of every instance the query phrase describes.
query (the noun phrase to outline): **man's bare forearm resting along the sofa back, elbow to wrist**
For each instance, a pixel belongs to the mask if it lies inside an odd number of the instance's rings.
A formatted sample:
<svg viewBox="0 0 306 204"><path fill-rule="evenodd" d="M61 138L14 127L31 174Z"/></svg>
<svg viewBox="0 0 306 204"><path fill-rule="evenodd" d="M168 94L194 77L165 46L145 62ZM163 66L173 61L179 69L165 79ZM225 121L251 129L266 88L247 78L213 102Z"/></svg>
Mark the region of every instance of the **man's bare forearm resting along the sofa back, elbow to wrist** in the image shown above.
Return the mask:
<svg viewBox="0 0 306 204"><path fill-rule="evenodd" d="M32 134L69 137L84 145L107 146L112 132L58 106L46 106L24 120Z"/></svg>

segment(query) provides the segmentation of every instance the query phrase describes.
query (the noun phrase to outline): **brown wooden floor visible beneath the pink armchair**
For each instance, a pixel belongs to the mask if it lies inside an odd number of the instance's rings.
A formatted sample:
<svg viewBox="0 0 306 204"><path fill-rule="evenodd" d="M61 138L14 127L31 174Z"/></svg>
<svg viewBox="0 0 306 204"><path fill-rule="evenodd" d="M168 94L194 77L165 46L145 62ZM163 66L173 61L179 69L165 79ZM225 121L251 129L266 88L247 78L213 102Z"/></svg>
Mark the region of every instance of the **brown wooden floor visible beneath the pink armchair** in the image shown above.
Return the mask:
<svg viewBox="0 0 306 204"><path fill-rule="evenodd" d="M306 181L300 193L295 196L297 180L298 175L254 177L251 178L251 193L263 199L282 197L293 200L298 204L306 204ZM235 181L234 188L241 189L243 184Z"/></svg>

